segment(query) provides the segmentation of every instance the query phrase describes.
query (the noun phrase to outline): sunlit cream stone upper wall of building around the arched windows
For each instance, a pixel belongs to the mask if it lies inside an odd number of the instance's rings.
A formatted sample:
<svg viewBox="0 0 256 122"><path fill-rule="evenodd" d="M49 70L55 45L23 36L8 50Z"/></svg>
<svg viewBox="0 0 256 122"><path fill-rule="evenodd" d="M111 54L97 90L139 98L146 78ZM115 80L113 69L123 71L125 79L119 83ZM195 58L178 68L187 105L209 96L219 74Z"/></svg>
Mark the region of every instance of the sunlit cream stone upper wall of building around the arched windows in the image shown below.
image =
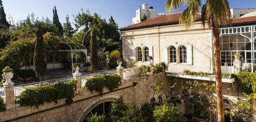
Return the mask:
<svg viewBox="0 0 256 122"><path fill-rule="evenodd" d="M187 63L179 62L179 47L187 48ZM192 71L212 72L212 33L210 30L195 23L189 30L183 25L148 27L137 30L122 31L123 58L126 62L136 60L136 48L152 48L154 64L166 62L170 70L183 72L184 69ZM176 48L177 62L170 63L170 46ZM143 58L143 56L142 56ZM137 62L145 64L144 61Z"/></svg>

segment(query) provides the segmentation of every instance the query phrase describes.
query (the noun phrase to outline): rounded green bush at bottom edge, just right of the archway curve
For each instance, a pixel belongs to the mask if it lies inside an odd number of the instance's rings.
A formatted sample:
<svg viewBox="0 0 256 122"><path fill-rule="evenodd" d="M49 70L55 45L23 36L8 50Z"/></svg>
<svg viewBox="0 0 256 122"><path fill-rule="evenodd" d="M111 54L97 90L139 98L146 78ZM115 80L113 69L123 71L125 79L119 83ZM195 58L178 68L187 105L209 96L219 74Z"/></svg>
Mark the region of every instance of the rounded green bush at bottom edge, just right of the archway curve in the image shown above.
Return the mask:
<svg viewBox="0 0 256 122"><path fill-rule="evenodd" d="M141 121L141 112L134 103L123 103L123 98L118 98L112 103L110 110L112 121Z"/></svg>

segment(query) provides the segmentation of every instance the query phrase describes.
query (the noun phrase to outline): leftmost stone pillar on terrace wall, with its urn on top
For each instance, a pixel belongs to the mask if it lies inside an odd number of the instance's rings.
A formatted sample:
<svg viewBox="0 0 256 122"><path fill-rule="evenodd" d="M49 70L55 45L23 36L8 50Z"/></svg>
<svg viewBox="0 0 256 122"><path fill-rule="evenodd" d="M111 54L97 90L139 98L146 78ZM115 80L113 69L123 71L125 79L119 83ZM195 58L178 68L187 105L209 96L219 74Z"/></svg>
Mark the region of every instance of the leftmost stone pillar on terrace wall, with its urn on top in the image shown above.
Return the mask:
<svg viewBox="0 0 256 122"><path fill-rule="evenodd" d="M3 73L3 79L5 79L5 83L3 83L3 87L5 87L5 102L7 110L15 107L14 100L14 83L11 82L11 78L13 78L13 73Z"/></svg>

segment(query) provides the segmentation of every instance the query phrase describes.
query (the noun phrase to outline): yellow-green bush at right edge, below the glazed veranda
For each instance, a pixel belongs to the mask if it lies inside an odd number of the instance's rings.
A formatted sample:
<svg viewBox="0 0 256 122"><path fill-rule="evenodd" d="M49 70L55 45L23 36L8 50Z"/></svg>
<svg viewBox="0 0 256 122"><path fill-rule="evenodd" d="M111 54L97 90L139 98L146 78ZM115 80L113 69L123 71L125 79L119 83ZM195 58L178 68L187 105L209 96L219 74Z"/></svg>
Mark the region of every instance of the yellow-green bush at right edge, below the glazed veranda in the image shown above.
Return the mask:
<svg viewBox="0 0 256 122"><path fill-rule="evenodd" d="M243 71L235 75L235 78L242 92L246 94L256 93L256 73Z"/></svg>

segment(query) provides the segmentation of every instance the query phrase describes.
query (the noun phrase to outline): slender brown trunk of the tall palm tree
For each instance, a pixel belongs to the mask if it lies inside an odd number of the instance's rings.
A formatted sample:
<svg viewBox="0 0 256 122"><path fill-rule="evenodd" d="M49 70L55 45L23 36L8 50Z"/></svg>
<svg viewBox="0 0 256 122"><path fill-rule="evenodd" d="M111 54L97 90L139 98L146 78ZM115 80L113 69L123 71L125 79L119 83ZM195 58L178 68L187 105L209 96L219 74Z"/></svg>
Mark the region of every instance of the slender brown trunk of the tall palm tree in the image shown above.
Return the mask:
<svg viewBox="0 0 256 122"><path fill-rule="evenodd" d="M218 121L224 122L224 100L222 93L221 81L221 61L220 61L220 33L219 25L214 23L213 27L213 40L214 40L214 66L215 66L215 79L216 79L216 92L217 92L217 109Z"/></svg>

